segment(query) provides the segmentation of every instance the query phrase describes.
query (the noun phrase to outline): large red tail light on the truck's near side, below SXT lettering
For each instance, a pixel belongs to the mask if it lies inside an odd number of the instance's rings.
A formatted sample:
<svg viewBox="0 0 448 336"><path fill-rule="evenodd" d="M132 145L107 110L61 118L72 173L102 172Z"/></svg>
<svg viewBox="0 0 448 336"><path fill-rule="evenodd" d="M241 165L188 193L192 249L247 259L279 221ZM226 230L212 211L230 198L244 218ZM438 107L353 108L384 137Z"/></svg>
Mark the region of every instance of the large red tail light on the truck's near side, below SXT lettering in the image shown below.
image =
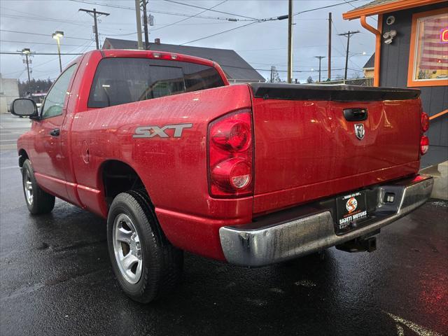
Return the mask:
<svg viewBox="0 0 448 336"><path fill-rule="evenodd" d="M209 192L216 197L253 194L253 134L250 109L209 125Z"/></svg>

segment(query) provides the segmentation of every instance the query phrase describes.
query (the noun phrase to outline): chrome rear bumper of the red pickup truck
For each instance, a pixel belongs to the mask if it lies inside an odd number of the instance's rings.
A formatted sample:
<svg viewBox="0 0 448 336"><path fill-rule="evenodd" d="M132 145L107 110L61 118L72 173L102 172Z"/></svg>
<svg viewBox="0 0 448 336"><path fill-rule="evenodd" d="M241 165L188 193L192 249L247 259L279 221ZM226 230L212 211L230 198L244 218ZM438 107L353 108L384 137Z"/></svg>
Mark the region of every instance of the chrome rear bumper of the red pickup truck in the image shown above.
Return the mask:
<svg viewBox="0 0 448 336"><path fill-rule="evenodd" d="M228 262L242 266L269 265L307 255L368 235L420 207L433 190L431 176L416 176L377 188L378 201L370 218L360 228L335 234L330 209L299 207L265 216L245 225L220 228L223 253ZM395 201L384 204L385 193Z"/></svg>

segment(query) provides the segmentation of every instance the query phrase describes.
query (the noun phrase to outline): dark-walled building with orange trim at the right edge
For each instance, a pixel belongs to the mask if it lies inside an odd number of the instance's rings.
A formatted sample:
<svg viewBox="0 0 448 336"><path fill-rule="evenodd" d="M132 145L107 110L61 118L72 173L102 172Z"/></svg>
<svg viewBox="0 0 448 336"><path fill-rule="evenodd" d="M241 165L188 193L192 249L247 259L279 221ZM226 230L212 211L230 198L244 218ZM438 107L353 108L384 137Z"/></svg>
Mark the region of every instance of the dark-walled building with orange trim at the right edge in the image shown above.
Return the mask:
<svg viewBox="0 0 448 336"><path fill-rule="evenodd" d="M378 15L376 28L365 18ZM422 166L448 160L448 1L375 0L347 13L376 36L374 85L418 87L431 118ZM371 64L369 64L371 65Z"/></svg>

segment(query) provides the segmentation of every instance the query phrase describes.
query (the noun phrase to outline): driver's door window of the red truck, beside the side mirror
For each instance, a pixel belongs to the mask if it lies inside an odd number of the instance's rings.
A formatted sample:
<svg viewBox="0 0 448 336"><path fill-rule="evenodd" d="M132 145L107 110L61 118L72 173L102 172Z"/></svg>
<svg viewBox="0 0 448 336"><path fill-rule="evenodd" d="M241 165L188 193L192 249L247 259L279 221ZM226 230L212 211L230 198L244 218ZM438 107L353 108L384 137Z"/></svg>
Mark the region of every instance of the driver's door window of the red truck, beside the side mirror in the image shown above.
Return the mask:
<svg viewBox="0 0 448 336"><path fill-rule="evenodd" d="M62 114L62 108L64 107L65 96L69 88L71 76L76 70L76 64L73 64L57 78L56 83L52 86L45 102L43 102L43 108L41 118L50 118L59 116Z"/></svg>

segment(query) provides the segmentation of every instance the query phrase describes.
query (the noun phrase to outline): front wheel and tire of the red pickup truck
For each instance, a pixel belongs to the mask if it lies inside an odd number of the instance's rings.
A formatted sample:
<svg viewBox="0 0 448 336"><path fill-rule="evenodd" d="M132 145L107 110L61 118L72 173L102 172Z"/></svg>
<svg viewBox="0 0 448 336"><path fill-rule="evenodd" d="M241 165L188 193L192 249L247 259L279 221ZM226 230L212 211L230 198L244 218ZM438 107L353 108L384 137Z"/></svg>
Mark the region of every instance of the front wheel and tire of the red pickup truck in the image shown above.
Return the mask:
<svg viewBox="0 0 448 336"><path fill-rule="evenodd" d="M55 196L46 193L38 186L34 177L33 166L28 159L22 166L22 188L29 212L33 215L48 214L55 207ZM31 190L31 197L27 197L27 188Z"/></svg>

